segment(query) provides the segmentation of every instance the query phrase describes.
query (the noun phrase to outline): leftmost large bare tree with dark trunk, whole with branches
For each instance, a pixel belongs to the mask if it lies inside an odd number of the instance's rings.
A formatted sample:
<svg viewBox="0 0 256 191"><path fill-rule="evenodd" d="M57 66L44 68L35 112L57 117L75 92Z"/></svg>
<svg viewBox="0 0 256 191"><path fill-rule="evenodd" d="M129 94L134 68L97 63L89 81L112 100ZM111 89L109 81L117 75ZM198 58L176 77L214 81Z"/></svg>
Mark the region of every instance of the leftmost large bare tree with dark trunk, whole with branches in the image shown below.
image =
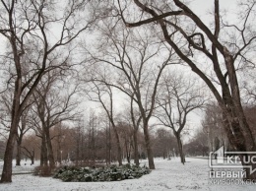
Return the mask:
<svg viewBox="0 0 256 191"><path fill-rule="evenodd" d="M61 58L59 50L62 48L61 52L66 53L63 47L90 28L95 20L89 18L90 14L87 16L88 20L78 17L83 14L76 14L83 11L81 8L87 4L87 1L67 3L68 5L65 6L63 1L2 0L0 2L0 33L7 38L11 47L11 54L7 54L5 58L10 58L11 62L8 63L12 63L13 66L10 67L13 75L8 82L14 84L12 122L1 182L12 181L12 156L20 117L41 77L45 71L66 66L69 55ZM55 39L52 39L54 33L52 24L58 25L60 29ZM49 62L49 57L55 58L51 61L58 59L59 65ZM26 67L29 67L29 70Z"/></svg>

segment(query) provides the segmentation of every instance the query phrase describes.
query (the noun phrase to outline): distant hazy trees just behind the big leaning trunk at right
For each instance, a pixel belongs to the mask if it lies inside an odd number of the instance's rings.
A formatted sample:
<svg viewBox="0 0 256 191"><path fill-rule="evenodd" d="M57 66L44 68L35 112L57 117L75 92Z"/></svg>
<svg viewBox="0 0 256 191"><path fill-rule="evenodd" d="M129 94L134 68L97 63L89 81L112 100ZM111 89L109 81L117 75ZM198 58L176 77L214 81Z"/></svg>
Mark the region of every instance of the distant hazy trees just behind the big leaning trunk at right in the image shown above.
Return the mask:
<svg viewBox="0 0 256 191"><path fill-rule="evenodd" d="M221 109L216 103L207 104L205 116L201 127L197 129L193 138L184 146L188 156L208 156L210 152L215 152L224 146L224 151L233 151L232 145L224 132ZM250 125L255 139L255 105L245 106L246 119Z"/></svg>

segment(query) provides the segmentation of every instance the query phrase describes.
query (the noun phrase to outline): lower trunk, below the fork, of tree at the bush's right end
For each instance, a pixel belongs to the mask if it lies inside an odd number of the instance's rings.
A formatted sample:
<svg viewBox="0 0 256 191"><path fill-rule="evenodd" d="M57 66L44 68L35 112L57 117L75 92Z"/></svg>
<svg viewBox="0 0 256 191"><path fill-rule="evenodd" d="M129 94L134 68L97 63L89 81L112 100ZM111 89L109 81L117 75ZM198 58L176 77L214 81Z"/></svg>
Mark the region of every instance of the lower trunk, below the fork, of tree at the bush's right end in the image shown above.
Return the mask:
<svg viewBox="0 0 256 191"><path fill-rule="evenodd" d="M144 124L143 130L144 130L144 138L145 138L147 155L148 155L148 159L149 159L149 168L155 169L154 155L153 155L153 150L152 150L152 146L151 146L151 138L150 138L150 134L149 134L148 124Z"/></svg>

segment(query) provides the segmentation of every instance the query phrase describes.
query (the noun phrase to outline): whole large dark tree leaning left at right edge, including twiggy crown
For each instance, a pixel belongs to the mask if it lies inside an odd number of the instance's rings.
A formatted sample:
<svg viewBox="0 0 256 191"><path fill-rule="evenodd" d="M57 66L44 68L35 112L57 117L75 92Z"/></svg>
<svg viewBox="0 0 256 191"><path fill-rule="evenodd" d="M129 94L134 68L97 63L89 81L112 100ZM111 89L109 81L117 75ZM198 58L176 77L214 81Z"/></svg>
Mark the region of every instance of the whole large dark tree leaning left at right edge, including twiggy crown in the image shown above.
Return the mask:
<svg viewBox="0 0 256 191"><path fill-rule="evenodd" d="M123 4L118 0L120 15L126 26L139 27L156 22L160 26L166 43L206 83L216 97L223 112L224 130L235 151L255 152L256 144L244 115L237 78L241 65L253 65L253 56L250 52L253 51L256 41L255 28L252 27L255 1L241 2L239 4L241 11L237 13L238 21L233 20L230 24L221 17L219 0L215 0L214 22L209 27L186 3L180 0L173 0L169 4L159 3L159 1L142 3L142 1L133 0L132 2L140 10L137 12L140 15L134 18L140 18L140 21L133 20L135 22L129 23L128 16L125 14L129 6L125 4L123 9ZM179 41L188 43L188 46L176 43L176 36ZM200 55L211 64L208 71L198 64L194 55ZM209 77L208 72L214 77ZM240 158L242 160L252 156L244 154ZM254 168L256 164L251 162L250 165ZM246 170L245 178L256 178L256 173L250 174L249 168L244 169Z"/></svg>

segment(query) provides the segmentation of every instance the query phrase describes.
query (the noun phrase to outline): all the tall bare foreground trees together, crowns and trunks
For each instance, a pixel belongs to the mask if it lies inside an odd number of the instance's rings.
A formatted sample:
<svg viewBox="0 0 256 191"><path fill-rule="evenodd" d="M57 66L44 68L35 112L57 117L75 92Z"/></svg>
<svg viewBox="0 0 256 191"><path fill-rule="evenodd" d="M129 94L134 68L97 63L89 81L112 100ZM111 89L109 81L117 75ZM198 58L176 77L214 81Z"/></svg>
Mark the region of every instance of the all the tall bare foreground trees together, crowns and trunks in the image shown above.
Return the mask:
<svg viewBox="0 0 256 191"><path fill-rule="evenodd" d="M150 133L153 118L158 125L172 129L181 162L185 162L182 130L188 115L209 99L202 82L219 104L218 120L230 146L237 152L255 151L241 97L245 93L250 102L253 100L253 83L243 83L240 78L254 66L251 52L255 34L250 22L255 1L241 4L246 11L240 12L234 25L222 17L219 0L214 2L213 25L208 26L188 3L179 0L1 1L0 33L8 44L1 55L1 123L9 133L1 182L12 181L15 144L19 164L28 129L40 138L41 165L54 167L52 140L56 138L60 144L61 136L54 137L51 129L62 121L81 121L80 96L87 96L96 102L95 107L103 109L120 165L123 140L127 157L131 151L128 143L133 143L135 163L139 164L138 136L142 128L149 166L155 168ZM117 97L121 97L119 101ZM122 124L125 133L118 128L118 110L126 116ZM213 133L212 122L211 118L205 121L207 135ZM90 137L94 138L94 117L89 124ZM77 131L83 127L74 126ZM122 137L127 133L132 140ZM94 160L93 138L90 156ZM222 143L224 140L219 138ZM78 137L77 146L83 141ZM213 147L217 142L209 143ZM256 173L245 169L247 177L254 179Z"/></svg>

